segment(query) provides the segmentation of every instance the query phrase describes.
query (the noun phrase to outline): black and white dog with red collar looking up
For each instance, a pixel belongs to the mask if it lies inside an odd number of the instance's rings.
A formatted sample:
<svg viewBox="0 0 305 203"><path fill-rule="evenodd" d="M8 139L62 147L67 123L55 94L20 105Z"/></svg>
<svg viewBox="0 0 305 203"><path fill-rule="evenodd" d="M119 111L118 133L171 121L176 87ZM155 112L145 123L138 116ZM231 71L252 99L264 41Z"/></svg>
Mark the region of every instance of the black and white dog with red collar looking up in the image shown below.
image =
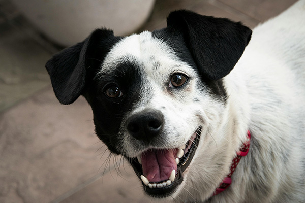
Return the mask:
<svg viewBox="0 0 305 203"><path fill-rule="evenodd" d="M60 103L86 98L148 195L305 202L304 0L253 33L186 10L139 35L97 29L46 68Z"/></svg>

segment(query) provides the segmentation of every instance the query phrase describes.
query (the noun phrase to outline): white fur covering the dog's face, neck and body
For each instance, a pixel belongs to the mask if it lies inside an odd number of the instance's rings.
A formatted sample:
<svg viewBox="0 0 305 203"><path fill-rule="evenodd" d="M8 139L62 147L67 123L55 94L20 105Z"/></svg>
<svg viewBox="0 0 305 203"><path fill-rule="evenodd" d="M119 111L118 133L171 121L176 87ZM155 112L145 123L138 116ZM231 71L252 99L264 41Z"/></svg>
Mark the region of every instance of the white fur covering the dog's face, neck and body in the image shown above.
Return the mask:
<svg viewBox="0 0 305 203"><path fill-rule="evenodd" d="M204 201L212 195L229 173L231 160L246 140L248 129L254 139L249 155L241 159L231 186L209 202L305 201L304 0L253 30L242 57L224 78L229 95L226 106L211 97L203 85L200 87L197 73L150 32L117 43L99 74L111 72L111 67L126 56L141 64L147 84L140 102L128 115L154 108L165 116L164 139L151 148L177 148L202 126L199 147L184 173L185 181L173 195L176 202ZM160 63L157 70L152 67L151 56ZM190 77L189 88L170 94L165 84L176 72ZM193 102L195 97L199 103ZM136 157L146 148L128 134L124 123L119 134L121 146L126 156ZM268 192L253 183L266 186Z"/></svg>

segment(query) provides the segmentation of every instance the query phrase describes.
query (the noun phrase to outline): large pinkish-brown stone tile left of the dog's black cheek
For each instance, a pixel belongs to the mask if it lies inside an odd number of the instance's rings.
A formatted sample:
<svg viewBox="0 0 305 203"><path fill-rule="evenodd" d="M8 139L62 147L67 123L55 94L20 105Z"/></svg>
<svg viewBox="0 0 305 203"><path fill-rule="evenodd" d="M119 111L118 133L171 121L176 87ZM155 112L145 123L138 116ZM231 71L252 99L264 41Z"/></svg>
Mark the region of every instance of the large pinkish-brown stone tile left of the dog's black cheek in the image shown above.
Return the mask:
<svg viewBox="0 0 305 203"><path fill-rule="evenodd" d="M92 118L85 99L60 105L50 86L3 113L0 202L50 202L99 177L108 151Z"/></svg>

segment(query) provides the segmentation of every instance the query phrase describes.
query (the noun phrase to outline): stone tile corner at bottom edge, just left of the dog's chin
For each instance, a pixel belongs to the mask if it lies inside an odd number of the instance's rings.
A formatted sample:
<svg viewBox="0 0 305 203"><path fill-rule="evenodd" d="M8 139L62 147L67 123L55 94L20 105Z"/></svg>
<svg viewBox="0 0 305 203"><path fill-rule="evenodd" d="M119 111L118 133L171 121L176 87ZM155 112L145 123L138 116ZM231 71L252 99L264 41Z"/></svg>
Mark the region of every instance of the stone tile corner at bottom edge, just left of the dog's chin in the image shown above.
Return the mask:
<svg viewBox="0 0 305 203"><path fill-rule="evenodd" d="M130 203L130 202L164 202L152 201L143 193L142 185L136 177L133 169L125 161L120 167L119 175L116 169L110 171L104 177L88 185L61 203L90 202L90 203Z"/></svg>

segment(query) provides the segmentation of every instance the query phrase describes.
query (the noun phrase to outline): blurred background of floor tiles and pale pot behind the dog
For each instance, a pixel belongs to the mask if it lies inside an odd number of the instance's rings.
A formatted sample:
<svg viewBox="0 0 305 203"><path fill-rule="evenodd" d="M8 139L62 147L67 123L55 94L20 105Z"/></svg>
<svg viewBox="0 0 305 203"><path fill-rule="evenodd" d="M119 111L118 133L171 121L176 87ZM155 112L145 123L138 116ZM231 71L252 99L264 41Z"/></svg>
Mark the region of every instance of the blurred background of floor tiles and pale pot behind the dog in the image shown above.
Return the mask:
<svg viewBox="0 0 305 203"><path fill-rule="evenodd" d="M59 104L44 67L52 54L99 27L115 35L163 28L176 9L254 28L294 2L0 0L0 202L151 202L95 136L85 99Z"/></svg>

